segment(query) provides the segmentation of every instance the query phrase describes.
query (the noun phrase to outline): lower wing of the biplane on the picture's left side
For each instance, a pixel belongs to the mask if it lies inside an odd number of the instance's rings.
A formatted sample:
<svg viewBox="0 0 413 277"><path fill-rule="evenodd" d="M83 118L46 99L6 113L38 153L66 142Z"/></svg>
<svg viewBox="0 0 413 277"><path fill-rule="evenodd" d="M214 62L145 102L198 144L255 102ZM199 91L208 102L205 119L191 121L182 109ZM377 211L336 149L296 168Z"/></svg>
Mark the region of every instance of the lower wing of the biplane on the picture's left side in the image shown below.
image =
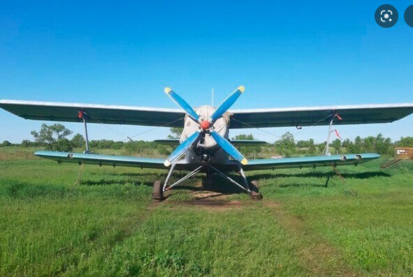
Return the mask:
<svg viewBox="0 0 413 277"><path fill-rule="evenodd" d="M37 151L34 155L48 158L50 160L56 160L57 163L86 163L95 165L112 165L115 166L128 166L128 167L141 167L141 168L157 168L160 170L168 170L165 167L165 159L161 158L139 158L133 156L110 156L99 154L82 154L74 152L57 152L57 151ZM175 165L177 170L193 170L194 167L191 164L185 162L185 160L179 160Z"/></svg>

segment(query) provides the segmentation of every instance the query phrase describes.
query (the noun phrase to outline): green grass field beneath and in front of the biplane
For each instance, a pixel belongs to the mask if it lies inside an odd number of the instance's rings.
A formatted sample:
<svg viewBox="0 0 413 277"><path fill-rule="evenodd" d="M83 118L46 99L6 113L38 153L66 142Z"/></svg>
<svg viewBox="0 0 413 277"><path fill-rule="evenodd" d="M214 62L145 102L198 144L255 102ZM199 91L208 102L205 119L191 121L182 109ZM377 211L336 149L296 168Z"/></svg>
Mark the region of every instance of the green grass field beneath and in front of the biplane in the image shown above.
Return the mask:
<svg viewBox="0 0 413 277"><path fill-rule="evenodd" d="M165 202L165 171L53 163L0 149L0 276L412 276L413 163L250 172ZM176 178L176 177L175 177ZM195 191L195 193L194 193Z"/></svg>

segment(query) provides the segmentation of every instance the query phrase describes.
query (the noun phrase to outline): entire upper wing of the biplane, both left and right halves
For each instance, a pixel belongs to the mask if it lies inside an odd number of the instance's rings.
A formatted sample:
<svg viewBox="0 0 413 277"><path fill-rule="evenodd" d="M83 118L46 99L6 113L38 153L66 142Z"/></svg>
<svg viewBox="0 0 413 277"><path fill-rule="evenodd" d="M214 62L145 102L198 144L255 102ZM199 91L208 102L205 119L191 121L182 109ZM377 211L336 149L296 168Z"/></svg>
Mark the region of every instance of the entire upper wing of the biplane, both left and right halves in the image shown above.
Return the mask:
<svg viewBox="0 0 413 277"><path fill-rule="evenodd" d="M24 119L81 121L83 111L91 123L141 126L182 127L185 113L177 109L53 103L24 100L0 100L0 107ZM383 105L340 105L326 107L287 107L273 109L230 110L230 128L263 128L328 125L334 114L336 124L386 123L413 112L413 103Z"/></svg>

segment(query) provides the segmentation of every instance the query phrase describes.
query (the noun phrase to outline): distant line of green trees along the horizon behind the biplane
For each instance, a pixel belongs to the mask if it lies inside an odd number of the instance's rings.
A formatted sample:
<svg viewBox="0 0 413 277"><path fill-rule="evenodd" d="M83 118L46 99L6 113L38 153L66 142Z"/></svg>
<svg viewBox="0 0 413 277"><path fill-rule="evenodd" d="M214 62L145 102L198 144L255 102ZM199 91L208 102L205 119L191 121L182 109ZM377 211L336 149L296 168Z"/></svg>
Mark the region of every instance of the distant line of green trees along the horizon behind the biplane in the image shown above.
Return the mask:
<svg viewBox="0 0 413 277"><path fill-rule="evenodd" d="M171 128L170 139L180 137L182 128ZM50 151L73 151L75 148L85 149L85 139L80 134L75 134L69 140L73 131L64 125L55 123L52 125L42 124L41 130L31 131L34 141L23 140L20 144L12 144L8 140L3 141L0 147L45 147ZM232 140L254 140L253 135L236 135ZM354 140L335 139L330 144L331 154L344 153L378 153L381 155L393 155L395 147L413 147L413 137L401 137L397 142L392 142L389 137L382 134L376 136L360 137ZM98 149L121 149L124 154L140 154L140 156L167 156L173 151L173 147L155 142L140 141L114 141L114 140L91 140L89 148ZM310 156L322 155L326 150L326 142L316 143L313 139L295 140L292 133L284 133L279 140L263 146L240 146L238 150L247 158L268 158L268 156Z"/></svg>

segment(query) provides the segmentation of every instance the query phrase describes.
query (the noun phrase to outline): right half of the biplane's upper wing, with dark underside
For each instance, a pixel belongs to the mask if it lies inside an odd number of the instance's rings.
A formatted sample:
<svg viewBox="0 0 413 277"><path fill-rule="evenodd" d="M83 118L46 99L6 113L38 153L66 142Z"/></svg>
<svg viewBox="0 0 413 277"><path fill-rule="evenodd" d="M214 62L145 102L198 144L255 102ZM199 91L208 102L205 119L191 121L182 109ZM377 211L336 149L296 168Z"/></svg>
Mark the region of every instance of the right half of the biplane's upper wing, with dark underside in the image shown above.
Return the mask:
<svg viewBox="0 0 413 277"><path fill-rule="evenodd" d="M339 105L325 107L286 107L273 109L231 110L230 128L263 128L335 124L386 123L402 119L413 112L413 103L382 105Z"/></svg>

